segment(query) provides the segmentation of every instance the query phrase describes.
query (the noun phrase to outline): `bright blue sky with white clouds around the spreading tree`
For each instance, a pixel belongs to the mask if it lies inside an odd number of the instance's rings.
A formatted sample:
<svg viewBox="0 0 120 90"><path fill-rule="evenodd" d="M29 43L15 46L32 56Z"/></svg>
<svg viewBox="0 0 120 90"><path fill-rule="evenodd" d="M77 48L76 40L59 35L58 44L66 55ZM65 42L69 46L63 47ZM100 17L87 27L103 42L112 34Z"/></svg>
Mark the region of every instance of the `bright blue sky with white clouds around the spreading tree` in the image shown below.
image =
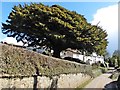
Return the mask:
<svg viewBox="0 0 120 90"><path fill-rule="evenodd" d="M34 1L34 0L33 0ZM28 4L30 2L27 2ZM1 21L5 22L14 5L24 4L23 2L2 2L2 13L0 13ZM45 5L59 4L68 10L76 11L84 15L88 22L92 24L99 23L108 33L107 50L112 54L118 49L118 3L117 2L44 2ZM17 43L12 38L7 38L0 30L0 41L6 40L12 43ZM21 42L19 43L21 44Z"/></svg>

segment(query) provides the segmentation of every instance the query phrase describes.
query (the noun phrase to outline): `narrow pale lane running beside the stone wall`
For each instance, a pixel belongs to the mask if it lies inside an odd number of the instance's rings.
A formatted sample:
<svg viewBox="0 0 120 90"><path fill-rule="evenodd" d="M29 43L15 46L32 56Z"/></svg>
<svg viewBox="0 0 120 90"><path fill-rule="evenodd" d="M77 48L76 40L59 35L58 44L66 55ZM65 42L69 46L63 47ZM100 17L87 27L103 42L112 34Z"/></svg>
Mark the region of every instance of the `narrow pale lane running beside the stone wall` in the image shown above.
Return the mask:
<svg viewBox="0 0 120 90"><path fill-rule="evenodd" d="M104 86L106 84L109 84L110 82L115 81L115 80L112 80L109 78L109 76L112 74L113 71L114 70L111 69L107 73L104 73L104 74L96 77L83 90L89 90L90 88L99 88L99 90L102 90L102 88L104 88ZM93 89L91 89L91 90L93 90Z"/></svg>

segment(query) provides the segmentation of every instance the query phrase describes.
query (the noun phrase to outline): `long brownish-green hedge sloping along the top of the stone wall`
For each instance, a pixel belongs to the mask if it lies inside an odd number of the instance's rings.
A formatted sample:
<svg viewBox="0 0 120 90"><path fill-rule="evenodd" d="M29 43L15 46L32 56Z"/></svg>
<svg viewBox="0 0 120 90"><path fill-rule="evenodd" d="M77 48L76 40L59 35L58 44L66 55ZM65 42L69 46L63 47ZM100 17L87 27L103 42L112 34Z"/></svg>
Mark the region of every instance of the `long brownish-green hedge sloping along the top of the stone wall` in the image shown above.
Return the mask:
<svg viewBox="0 0 120 90"><path fill-rule="evenodd" d="M53 76L68 73L85 73L92 76L89 65L49 57L27 49L1 44L0 73L10 75Z"/></svg>

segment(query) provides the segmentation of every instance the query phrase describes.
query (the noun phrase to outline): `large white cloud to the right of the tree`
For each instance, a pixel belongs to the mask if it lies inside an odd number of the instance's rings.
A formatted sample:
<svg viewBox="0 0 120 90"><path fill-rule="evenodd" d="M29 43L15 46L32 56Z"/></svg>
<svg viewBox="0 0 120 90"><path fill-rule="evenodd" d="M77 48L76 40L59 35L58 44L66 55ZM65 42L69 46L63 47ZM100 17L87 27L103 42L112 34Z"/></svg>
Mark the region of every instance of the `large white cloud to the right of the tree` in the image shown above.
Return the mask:
<svg viewBox="0 0 120 90"><path fill-rule="evenodd" d="M118 49L118 5L98 9L93 16L93 25L101 26L108 33L108 51Z"/></svg>

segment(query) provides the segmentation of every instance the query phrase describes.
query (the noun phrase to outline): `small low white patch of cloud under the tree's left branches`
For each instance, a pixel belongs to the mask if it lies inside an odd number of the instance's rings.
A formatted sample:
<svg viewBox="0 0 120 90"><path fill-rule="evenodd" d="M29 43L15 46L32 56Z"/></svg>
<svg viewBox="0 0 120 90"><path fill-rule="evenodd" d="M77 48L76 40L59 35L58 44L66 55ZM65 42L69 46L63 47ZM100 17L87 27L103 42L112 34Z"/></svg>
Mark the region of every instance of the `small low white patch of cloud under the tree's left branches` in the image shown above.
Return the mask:
<svg viewBox="0 0 120 90"><path fill-rule="evenodd" d="M17 42L17 40L13 37L6 37L5 39L2 40L3 42L7 42L8 44L14 44L14 45L20 45L23 46L23 43Z"/></svg>

